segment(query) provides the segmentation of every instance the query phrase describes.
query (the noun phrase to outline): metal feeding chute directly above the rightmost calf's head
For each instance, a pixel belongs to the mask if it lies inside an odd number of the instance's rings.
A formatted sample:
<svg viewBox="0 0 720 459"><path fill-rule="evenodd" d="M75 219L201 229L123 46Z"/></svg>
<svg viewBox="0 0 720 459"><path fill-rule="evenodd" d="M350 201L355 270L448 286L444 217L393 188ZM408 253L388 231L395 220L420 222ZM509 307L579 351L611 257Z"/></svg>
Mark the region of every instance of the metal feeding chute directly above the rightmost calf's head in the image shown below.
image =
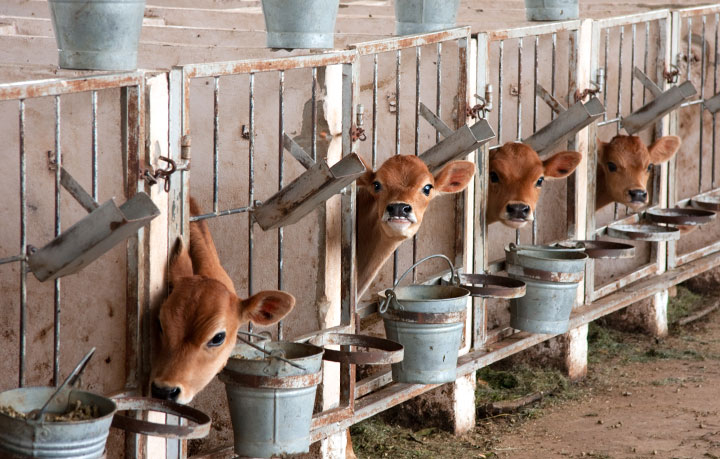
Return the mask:
<svg viewBox="0 0 720 459"><path fill-rule="evenodd" d="M630 135L656 122L678 108L686 99L697 94L695 86L689 81L663 92L639 68L635 67L634 75L655 96L655 99L622 119L622 127Z"/></svg>

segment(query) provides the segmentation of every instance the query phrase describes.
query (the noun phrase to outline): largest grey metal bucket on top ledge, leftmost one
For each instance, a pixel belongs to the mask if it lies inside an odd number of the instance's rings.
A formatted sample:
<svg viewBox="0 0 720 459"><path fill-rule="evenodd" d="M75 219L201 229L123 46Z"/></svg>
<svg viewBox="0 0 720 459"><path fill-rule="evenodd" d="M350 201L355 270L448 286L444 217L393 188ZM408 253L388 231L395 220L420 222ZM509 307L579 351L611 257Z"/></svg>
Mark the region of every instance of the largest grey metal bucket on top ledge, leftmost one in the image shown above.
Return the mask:
<svg viewBox="0 0 720 459"><path fill-rule="evenodd" d="M145 0L49 0L60 67L134 70Z"/></svg>

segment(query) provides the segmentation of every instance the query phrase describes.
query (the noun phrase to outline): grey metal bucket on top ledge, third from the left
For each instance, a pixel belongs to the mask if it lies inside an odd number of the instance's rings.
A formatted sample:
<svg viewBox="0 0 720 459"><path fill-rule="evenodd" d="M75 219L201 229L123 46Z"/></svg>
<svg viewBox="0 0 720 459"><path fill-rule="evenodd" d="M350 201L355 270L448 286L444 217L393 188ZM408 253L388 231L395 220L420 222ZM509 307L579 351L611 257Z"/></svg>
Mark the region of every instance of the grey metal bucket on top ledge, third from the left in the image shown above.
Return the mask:
<svg viewBox="0 0 720 459"><path fill-rule="evenodd" d="M395 0L395 34L451 29L459 4L460 0Z"/></svg>

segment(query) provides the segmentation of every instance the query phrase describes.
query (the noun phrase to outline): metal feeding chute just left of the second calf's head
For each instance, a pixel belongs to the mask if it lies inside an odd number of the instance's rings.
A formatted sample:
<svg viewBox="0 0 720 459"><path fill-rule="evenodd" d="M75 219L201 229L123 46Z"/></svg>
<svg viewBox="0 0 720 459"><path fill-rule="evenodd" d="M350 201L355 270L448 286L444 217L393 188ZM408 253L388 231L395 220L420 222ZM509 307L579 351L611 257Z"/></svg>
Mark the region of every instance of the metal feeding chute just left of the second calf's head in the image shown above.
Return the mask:
<svg viewBox="0 0 720 459"><path fill-rule="evenodd" d="M308 169L253 211L255 221L266 231L297 222L367 170L355 153L330 167L324 161L314 163L287 134L284 146Z"/></svg>

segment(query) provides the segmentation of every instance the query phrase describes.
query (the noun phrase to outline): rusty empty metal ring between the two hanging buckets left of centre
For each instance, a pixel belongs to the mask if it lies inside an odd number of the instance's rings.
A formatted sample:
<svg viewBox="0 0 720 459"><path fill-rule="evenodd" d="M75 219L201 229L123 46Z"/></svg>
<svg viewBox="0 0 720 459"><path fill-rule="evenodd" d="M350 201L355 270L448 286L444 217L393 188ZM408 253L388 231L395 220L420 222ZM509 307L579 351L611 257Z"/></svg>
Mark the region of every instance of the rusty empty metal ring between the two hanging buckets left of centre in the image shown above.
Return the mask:
<svg viewBox="0 0 720 459"><path fill-rule="evenodd" d="M375 351L336 351L325 348L323 360L331 362L351 363L354 365L380 365L402 361L404 348L400 343L389 339L349 333L330 333L325 336L324 346L359 346L378 349Z"/></svg>

